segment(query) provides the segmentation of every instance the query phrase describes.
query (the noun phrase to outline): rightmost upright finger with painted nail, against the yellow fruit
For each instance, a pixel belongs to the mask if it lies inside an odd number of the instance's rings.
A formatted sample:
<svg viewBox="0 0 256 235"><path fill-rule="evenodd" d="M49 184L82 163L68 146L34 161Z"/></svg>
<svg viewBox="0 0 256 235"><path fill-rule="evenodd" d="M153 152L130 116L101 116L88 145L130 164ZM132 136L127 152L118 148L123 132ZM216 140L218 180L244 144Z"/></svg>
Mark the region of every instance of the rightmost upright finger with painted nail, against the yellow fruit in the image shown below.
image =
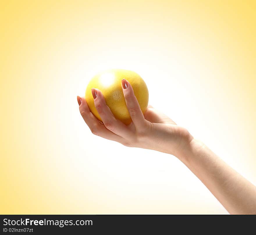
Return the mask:
<svg viewBox="0 0 256 235"><path fill-rule="evenodd" d="M134 95L131 84L125 79L122 79L122 89L125 97L126 106L131 116L131 120L133 121L135 127L143 127L145 124L144 115L141 111L138 100Z"/></svg>

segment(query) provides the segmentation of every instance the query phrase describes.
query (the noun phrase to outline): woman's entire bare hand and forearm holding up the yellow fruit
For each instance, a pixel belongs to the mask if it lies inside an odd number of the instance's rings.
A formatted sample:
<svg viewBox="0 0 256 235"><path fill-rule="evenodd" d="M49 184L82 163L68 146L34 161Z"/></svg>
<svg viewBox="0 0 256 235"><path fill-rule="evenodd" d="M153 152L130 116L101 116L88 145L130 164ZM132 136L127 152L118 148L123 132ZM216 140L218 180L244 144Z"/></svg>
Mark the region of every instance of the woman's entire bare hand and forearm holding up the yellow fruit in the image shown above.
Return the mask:
<svg viewBox="0 0 256 235"><path fill-rule="evenodd" d="M120 85L132 119L129 125L114 117L100 90L93 88L92 95L103 123L90 112L86 100L77 97L80 113L93 134L128 147L172 154L205 184L230 214L256 214L253 184L163 113L148 106L143 115L130 83L123 79Z"/></svg>

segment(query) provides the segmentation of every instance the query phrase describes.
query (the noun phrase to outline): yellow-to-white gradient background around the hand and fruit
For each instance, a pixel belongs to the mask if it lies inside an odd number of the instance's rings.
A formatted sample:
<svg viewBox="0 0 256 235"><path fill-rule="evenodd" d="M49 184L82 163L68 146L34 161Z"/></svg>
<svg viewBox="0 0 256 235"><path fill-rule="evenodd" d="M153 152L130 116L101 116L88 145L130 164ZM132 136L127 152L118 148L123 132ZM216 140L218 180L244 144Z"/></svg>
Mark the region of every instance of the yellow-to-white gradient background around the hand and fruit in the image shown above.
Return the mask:
<svg viewBox="0 0 256 235"><path fill-rule="evenodd" d="M225 214L174 156L90 133L101 70L256 183L255 1L1 1L1 214Z"/></svg>

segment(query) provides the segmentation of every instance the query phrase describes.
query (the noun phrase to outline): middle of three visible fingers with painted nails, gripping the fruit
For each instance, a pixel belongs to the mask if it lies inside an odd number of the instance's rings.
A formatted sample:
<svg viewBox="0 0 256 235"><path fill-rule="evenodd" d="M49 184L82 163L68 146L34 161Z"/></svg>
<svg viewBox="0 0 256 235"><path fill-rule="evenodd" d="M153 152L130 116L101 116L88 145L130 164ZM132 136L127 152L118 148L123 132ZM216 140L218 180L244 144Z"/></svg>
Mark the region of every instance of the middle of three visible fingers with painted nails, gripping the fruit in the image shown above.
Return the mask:
<svg viewBox="0 0 256 235"><path fill-rule="evenodd" d="M131 138L131 130L124 123L115 118L109 106L106 105L102 92L98 89L92 88L92 94L95 108L97 109L105 127L125 139Z"/></svg>

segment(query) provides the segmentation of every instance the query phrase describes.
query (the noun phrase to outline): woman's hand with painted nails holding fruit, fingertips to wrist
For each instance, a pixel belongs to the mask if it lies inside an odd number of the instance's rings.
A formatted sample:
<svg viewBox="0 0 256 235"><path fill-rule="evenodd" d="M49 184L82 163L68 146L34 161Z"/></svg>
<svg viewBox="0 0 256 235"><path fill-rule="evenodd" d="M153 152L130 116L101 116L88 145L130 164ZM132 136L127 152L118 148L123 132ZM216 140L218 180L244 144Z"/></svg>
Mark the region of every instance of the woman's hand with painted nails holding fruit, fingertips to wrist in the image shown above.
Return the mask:
<svg viewBox="0 0 256 235"><path fill-rule="evenodd" d="M114 117L100 90L93 88L92 95L103 123L90 112L86 100L77 97L80 113L93 134L128 147L154 149L175 156L189 146L193 137L166 115L151 106L147 107L143 115L131 84L125 79L122 80L122 90L132 119L129 125Z"/></svg>

